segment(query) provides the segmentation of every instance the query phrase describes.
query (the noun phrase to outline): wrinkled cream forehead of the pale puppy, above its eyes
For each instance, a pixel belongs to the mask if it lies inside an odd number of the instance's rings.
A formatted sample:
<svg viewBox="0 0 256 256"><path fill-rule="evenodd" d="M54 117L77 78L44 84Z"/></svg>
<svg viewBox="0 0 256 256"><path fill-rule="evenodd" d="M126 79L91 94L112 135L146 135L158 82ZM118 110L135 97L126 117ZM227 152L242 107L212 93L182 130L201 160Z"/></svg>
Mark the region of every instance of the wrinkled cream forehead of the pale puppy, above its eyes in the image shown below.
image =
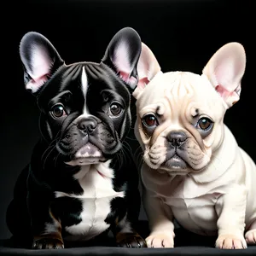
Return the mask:
<svg viewBox="0 0 256 256"><path fill-rule="evenodd" d="M222 105L220 96L205 77L195 73L170 72L155 77L146 86L137 108L140 116L150 111L162 115L166 109L172 114L189 110L194 115L194 112L218 111Z"/></svg>

